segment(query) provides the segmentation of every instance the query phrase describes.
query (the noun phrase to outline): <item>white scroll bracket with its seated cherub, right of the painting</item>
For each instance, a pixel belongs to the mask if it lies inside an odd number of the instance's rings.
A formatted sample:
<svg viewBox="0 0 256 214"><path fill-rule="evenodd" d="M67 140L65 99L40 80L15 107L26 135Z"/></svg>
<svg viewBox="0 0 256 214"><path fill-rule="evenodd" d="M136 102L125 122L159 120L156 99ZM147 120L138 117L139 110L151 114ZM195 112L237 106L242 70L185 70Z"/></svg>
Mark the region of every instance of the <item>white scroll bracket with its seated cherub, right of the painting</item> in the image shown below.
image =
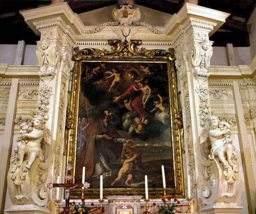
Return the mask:
<svg viewBox="0 0 256 214"><path fill-rule="evenodd" d="M230 138L231 125L216 116L208 118L210 130L203 128L200 136L203 175L202 200L234 203L238 193L237 155Z"/></svg>

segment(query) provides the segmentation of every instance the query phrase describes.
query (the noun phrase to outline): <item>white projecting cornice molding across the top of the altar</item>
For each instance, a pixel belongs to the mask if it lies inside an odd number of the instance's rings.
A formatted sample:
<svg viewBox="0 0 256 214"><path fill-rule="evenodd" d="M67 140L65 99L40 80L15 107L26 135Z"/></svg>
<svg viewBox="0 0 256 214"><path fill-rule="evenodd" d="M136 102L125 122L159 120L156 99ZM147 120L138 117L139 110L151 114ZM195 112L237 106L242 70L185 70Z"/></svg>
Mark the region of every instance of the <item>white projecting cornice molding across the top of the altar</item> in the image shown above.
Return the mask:
<svg viewBox="0 0 256 214"><path fill-rule="evenodd" d="M79 16L71 10L66 2L21 11L20 13L25 18L26 23L37 35L40 35L39 31L52 29L52 27L58 26L75 44L78 44L81 40L83 40L82 42L88 42L92 39L96 39L100 40L100 42L106 42L110 39L117 39L117 35L114 33L113 29L123 28L123 26L106 26L103 30L94 33L93 35L85 34L83 32L92 30L97 26L84 26L84 23ZM212 34L225 23L225 19L228 16L229 14L225 12L186 3L177 14L174 14L168 20L164 27L152 26L154 29L164 32L164 34L156 34L155 31L152 32L152 30L143 25L128 27L130 29L139 28L139 33L133 36L132 39L140 39L143 40L143 42L155 42L159 40L170 42L172 37L170 35L175 35L175 30L177 30L177 27L180 25L184 25L184 27L187 25L199 27L208 32L211 31L210 34Z"/></svg>

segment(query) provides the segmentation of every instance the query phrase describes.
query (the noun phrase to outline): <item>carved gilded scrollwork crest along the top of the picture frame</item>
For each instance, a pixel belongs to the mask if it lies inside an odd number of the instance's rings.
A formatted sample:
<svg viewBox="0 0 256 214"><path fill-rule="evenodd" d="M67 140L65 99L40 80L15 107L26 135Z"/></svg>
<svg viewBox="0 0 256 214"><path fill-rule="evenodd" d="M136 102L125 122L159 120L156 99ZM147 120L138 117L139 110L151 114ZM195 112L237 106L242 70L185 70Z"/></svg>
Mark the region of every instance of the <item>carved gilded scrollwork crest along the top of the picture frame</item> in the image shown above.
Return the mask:
<svg viewBox="0 0 256 214"><path fill-rule="evenodd" d="M110 50L97 49L97 48L85 48L79 50L75 48L74 60L80 60L82 57L85 58L121 58L121 59L130 59L130 58L149 58L157 59L158 56L167 57L169 60L175 60L174 49L169 48L168 50L163 49L152 49L148 50L145 48L139 49L137 46L142 45L141 40L131 40L130 42L122 42L120 40L109 40L108 44L113 46Z"/></svg>

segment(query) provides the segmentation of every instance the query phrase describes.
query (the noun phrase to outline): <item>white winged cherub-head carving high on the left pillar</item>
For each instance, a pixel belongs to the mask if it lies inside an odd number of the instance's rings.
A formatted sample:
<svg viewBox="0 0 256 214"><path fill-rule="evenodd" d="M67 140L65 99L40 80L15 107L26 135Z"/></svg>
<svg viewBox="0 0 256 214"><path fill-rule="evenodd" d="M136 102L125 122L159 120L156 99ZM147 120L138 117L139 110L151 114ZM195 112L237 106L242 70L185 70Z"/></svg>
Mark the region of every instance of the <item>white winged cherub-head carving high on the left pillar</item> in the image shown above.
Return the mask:
<svg viewBox="0 0 256 214"><path fill-rule="evenodd" d="M53 76L59 55L55 46L48 40L42 40L36 50L38 66L40 67L39 76Z"/></svg>

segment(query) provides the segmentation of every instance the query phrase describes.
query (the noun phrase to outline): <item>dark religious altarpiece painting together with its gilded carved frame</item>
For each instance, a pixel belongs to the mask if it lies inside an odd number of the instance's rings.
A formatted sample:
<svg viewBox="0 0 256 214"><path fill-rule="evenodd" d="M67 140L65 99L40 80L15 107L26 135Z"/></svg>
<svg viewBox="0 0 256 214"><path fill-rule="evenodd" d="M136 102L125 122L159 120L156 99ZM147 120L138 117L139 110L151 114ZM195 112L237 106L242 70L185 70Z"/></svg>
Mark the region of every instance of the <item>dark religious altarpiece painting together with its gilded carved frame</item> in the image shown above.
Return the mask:
<svg viewBox="0 0 256 214"><path fill-rule="evenodd" d="M76 49L67 113L67 164L73 182L82 168L90 188L104 195L183 195L182 122L173 50L138 49L140 41L110 41L110 51ZM79 195L72 192L71 195Z"/></svg>

